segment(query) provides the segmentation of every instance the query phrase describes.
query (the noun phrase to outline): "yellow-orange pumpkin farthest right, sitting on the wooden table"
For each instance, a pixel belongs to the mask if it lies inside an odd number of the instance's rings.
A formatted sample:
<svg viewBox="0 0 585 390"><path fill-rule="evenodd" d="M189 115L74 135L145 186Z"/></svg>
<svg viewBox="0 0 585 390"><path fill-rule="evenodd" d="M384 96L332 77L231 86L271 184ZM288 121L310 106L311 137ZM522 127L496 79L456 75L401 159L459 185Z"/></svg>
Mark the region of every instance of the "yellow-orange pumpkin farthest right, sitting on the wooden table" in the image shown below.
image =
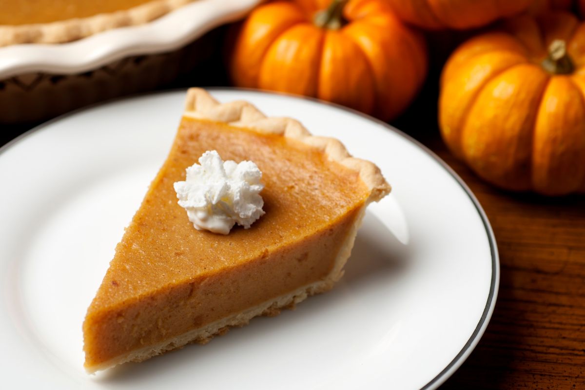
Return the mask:
<svg viewBox="0 0 585 390"><path fill-rule="evenodd" d="M585 191L585 23L525 15L464 43L443 68L439 125L495 185Z"/></svg>

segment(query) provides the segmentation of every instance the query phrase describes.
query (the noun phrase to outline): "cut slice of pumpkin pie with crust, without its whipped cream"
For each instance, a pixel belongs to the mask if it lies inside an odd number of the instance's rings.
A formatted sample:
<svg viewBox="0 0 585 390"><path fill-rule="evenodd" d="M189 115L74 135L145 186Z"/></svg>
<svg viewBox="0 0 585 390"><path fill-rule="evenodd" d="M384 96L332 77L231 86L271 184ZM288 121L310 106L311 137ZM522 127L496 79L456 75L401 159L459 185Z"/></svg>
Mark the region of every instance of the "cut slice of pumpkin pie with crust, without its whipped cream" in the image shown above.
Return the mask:
<svg viewBox="0 0 585 390"><path fill-rule="evenodd" d="M174 183L205 151L262 172L249 229L197 230ZM276 315L343 275L366 206L390 192L340 141L192 88L167 160L127 227L83 324L85 368L142 361Z"/></svg>

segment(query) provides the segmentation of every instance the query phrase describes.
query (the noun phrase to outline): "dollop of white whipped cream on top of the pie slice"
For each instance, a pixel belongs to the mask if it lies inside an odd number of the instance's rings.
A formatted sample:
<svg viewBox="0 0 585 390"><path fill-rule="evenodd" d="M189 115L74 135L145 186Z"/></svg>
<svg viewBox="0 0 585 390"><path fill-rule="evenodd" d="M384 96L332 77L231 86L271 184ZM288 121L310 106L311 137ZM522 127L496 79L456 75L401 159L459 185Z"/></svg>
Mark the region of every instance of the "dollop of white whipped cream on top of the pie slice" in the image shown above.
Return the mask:
<svg viewBox="0 0 585 390"><path fill-rule="evenodd" d="M174 188L195 229L228 234L236 223L248 229L264 215L261 178L252 161L223 161L211 150L187 168L185 181Z"/></svg>

